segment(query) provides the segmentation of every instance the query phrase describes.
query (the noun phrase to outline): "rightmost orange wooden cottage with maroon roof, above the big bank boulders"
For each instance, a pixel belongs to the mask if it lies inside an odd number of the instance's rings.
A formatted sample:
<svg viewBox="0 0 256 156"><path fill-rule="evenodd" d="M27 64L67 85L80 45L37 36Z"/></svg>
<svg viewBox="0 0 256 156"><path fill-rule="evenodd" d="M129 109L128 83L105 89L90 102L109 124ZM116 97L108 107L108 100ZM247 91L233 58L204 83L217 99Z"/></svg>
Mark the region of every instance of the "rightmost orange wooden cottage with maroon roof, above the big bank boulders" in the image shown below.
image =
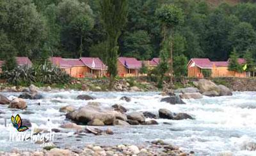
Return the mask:
<svg viewBox="0 0 256 156"><path fill-rule="evenodd" d="M238 59L239 64L244 64L244 59ZM238 73L228 71L228 61L211 61L209 59L191 59L188 62L188 77L204 78L205 73L211 77L246 77L246 72Z"/></svg>

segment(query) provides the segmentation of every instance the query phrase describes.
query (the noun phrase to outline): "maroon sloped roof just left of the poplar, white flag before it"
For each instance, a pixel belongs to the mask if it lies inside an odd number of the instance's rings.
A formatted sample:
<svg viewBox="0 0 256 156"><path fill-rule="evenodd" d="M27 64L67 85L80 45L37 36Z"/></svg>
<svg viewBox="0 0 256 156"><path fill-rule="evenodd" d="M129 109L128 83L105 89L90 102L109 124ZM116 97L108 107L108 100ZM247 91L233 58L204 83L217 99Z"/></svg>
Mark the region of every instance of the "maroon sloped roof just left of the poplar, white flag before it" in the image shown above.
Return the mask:
<svg viewBox="0 0 256 156"><path fill-rule="evenodd" d="M91 69L107 69L108 67L99 59L99 57L81 57L80 59L85 66Z"/></svg>

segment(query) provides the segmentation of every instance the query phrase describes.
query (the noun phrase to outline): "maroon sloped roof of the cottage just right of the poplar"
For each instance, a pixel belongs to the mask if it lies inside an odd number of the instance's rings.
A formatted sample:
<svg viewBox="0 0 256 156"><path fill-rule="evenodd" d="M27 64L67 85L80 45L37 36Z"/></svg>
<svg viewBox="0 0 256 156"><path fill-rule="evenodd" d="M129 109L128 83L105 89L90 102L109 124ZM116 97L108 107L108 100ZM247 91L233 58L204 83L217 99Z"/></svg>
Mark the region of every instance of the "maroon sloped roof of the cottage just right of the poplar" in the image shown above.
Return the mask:
<svg viewBox="0 0 256 156"><path fill-rule="evenodd" d="M118 60L121 64L128 69L140 69L141 61L135 59L134 57L119 57Z"/></svg>

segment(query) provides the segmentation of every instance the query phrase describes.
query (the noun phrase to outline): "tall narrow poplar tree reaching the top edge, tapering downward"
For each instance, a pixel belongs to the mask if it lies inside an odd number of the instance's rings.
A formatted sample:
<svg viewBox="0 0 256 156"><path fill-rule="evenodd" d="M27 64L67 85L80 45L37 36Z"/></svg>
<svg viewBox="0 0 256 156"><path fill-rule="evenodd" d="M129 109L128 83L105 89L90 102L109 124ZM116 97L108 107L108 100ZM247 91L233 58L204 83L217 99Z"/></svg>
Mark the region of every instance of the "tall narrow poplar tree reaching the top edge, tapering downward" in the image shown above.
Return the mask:
<svg viewBox="0 0 256 156"><path fill-rule="evenodd" d="M110 74L109 88L112 89L117 75L117 40L127 20L127 0L102 0L100 2L100 15L108 34L107 65Z"/></svg>

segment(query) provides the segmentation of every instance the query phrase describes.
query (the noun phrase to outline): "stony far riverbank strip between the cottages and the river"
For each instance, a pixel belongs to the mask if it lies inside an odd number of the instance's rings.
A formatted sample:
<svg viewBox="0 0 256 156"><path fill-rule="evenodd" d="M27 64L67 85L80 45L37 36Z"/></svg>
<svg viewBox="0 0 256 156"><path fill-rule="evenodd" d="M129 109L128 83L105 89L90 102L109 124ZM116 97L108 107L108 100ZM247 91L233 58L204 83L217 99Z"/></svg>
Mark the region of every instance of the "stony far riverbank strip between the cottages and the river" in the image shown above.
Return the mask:
<svg viewBox="0 0 256 156"><path fill-rule="evenodd" d="M256 78L206 78L216 83L216 85L225 85L233 91L256 91ZM166 78L168 80L168 78ZM35 83L34 85L40 90L82 90L93 92L160 92L181 89L186 87L195 87L193 82L198 81L198 78L175 78L174 85L171 88L168 81L163 83L163 88L158 88L157 83L150 80L148 77L139 78L118 78L116 79L113 90L108 89L109 80L107 78L84 78L74 79L68 84L52 84L46 85ZM0 83L0 91L21 92L28 89L26 85L10 85L8 83Z"/></svg>

